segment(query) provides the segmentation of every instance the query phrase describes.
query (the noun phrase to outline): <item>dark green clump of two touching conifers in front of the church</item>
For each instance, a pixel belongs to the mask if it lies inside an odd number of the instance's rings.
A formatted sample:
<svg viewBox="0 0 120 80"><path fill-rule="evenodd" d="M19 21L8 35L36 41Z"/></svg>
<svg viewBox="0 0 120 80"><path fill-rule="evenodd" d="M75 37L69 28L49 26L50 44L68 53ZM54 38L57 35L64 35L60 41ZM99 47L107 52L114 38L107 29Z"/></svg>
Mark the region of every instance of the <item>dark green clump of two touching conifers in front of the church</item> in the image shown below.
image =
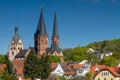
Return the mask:
<svg viewBox="0 0 120 80"><path fill-rule="evenodd" d="M38 58L33 51L30 51L24 63L25 78L31 78L31 80L40 78L44 80L48 78L50 72L51 67L48 55L43 54Z"/></svg>

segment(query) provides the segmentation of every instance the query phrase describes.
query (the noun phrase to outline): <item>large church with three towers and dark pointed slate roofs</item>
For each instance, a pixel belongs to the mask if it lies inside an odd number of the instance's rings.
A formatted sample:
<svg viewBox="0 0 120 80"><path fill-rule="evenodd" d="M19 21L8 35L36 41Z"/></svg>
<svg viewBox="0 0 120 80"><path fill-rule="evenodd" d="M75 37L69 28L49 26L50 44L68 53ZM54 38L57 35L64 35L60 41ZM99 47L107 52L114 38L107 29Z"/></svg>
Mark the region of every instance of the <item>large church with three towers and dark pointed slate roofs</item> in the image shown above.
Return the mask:
<svg viewBox="0 0 120 80"><path fill-rule="evenodd" d="M8 57L10 61L13 61L15 59L24 60L31 50L33 50L39 57L44 53L48 55L55 55L62 57L63 53L59 47L60 37L58 34L56 12L54 13L53 34L51 37L50 47L48 47L48 41L49 40L44 22L43 9L41 9L38 26L34 34L34 47L29 47L28 49L24 49L22 39L18 33L18 26L16 26L14 36L12 37L12 40L9 44Z"/></svg>

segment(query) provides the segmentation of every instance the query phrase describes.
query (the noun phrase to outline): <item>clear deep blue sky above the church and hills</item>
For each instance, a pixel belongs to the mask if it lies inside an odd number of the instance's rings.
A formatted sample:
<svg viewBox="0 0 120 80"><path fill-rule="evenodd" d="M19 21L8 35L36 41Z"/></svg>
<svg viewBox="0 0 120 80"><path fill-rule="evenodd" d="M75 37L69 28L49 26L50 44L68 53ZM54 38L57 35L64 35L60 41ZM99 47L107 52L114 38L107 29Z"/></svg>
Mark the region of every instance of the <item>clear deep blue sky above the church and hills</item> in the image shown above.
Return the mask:
<svg viewBox="0 0 120 80"><path fill-rule="evenodd" d="M120 0L0 0L0 53L8 52L15 25L24 47L34 46L41 8L49 46L55 11L61 49L120 38Z"/></svg>

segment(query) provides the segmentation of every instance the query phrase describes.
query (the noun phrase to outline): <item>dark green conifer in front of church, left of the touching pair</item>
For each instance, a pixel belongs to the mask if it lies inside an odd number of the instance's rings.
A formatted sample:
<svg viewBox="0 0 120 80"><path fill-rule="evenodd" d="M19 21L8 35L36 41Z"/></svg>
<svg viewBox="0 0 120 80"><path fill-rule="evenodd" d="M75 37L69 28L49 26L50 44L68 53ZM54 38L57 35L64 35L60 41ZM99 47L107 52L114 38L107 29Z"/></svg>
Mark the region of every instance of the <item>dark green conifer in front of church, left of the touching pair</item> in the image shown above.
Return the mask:
<svg viewBox="0 0 120 80"><path fill-rule="evenodd" d="M25 78L31 78L34 80L34 78L38 77L38 58L33 50L30 51L30 53L27 55L27 58L24 63L24 76Z"/></svg>

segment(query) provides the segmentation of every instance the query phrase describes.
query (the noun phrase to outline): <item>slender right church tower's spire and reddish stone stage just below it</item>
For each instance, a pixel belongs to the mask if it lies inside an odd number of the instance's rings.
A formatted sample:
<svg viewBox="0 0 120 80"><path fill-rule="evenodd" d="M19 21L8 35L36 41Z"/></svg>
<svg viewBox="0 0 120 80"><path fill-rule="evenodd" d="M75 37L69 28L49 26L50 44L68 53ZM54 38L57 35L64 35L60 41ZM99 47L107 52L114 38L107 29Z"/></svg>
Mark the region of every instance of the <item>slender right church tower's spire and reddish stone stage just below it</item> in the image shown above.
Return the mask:
<svg viewBox="0 0 120 80"><path fill-rule="evenodd" d="M52 44L57 44L59 46L59 34L58 34L58 25L57 25L57 17L56 12L54 14L54 24L53 24L53 34L52 34Z"/></svg>

